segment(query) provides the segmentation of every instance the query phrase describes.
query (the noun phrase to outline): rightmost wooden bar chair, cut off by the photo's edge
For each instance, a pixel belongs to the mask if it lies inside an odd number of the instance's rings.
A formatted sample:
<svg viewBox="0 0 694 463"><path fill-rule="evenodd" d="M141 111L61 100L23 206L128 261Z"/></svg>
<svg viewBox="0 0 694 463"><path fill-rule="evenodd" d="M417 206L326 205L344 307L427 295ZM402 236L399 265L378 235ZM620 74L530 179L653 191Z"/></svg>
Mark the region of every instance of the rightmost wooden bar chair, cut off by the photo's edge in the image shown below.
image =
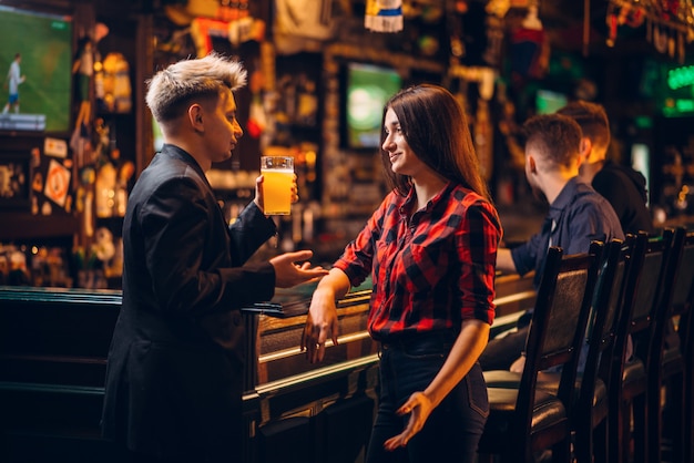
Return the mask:
<svg viewBox="0 0 694 463"><path fill-rule="evenodd" d="M687 450L692 421L691 416L687 421L685 409L691 400L686 394L692 394L692 388L691 382L688 389L686 384L685 347L694 295L694 233L687 234L684 228L675 230L667 268L665 279L672 281L672 286L662 295L651 336L652 374L649 375L647 407L653 411L651 423L654 428L649 432L649 460L660 462L661 453L669 450L667 461L692 462L693 456ZM665 392L665 403L661 400L662 392Z"/></svg>

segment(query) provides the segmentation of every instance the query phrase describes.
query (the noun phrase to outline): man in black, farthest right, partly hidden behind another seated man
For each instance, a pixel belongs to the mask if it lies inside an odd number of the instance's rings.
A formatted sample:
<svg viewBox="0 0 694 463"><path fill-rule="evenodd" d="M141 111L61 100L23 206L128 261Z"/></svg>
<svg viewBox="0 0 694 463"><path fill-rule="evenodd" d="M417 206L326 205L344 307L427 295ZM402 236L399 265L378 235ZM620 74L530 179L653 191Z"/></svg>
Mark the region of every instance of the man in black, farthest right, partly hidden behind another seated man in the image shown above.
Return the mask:
<svg viewBox="0 0 694 463"><path fill-rule="evenodd" d="M611 135L604 107L596 103L574 101L558 113L573 119L583 132L581 155L584 161L579 169L581 179L610 202L625 234L640 230L652 234L653 219L647 207L644 176L631 167L606 160Z"/></svg>

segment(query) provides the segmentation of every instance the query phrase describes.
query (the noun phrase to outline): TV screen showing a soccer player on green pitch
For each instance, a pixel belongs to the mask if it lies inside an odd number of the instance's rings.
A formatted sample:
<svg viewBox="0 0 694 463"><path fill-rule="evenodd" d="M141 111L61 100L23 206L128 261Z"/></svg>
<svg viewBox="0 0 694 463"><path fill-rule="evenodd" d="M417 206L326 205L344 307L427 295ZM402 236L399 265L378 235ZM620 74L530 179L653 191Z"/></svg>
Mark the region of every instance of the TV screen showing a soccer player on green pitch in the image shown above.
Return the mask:
<svg viewBox="0 0 694 463"><path fill-rule="evenodd" d="M72 18L0 6L0 131L68 133ZM8 105L18 66L19 104Z"/></svg>

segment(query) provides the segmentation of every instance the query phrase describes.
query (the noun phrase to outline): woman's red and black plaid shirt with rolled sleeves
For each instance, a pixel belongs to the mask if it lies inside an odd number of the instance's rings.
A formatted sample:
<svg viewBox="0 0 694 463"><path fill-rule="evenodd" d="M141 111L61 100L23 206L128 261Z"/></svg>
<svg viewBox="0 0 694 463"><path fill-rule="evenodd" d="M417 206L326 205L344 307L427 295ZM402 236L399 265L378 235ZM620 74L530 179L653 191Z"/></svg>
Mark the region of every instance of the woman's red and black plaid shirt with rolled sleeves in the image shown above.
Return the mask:
<svg viewBox="0 0 694 463"><path fill-rule="evenodd" d="M480 195L449 183L416 212L414 189L390 193L335 267L357 286L371 274L368 329L391 341L422 331L459 330L463 319L491 325L501 225Z"/></svg>

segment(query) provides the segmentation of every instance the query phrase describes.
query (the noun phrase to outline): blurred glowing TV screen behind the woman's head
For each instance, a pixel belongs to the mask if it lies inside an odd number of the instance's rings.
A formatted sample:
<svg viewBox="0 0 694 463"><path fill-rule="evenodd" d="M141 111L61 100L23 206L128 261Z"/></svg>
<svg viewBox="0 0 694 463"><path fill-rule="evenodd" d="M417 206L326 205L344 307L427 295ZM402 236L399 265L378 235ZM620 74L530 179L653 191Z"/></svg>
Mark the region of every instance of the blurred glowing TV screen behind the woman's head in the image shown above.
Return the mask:
<svg viewBox="0 0 694 463"><path fill-rule="evenodd" d="M348 148L380 146L384 105L402 85L390 68L348 63L345 81L345 145Z"/></svg>

